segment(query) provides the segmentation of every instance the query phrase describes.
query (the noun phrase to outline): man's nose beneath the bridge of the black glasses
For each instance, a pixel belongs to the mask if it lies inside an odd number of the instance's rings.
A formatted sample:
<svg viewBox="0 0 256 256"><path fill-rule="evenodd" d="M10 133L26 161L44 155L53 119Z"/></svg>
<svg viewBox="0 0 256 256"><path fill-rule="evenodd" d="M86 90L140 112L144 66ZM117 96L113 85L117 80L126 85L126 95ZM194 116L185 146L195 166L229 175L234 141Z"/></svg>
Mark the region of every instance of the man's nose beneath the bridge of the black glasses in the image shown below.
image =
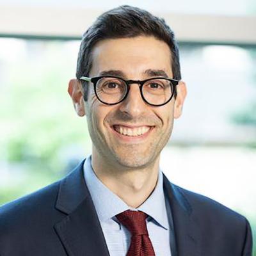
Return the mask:
<svg viewBox="0 0 256 256"><path fill-rule="evenodd" d="M130 84L129 93L121 102L120 111L134 118L143 114L146 109L147 104L141 97L139 84Z"/></svg>

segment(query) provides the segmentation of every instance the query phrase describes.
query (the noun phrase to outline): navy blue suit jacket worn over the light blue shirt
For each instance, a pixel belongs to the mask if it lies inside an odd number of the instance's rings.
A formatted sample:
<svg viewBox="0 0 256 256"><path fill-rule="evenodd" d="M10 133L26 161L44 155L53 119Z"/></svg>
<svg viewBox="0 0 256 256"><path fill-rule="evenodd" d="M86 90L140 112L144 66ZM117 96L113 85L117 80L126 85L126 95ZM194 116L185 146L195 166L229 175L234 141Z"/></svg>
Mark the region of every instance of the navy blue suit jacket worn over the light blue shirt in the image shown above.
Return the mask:
<svg viewBox="0 0 256 256"><path fill-rule="evenodd" d="M251 256L246 218L164 176L172 256ZM1 256L109 256L83 162L64 179L0 207ZM156 255L157 256L157 255Z"/></svg>

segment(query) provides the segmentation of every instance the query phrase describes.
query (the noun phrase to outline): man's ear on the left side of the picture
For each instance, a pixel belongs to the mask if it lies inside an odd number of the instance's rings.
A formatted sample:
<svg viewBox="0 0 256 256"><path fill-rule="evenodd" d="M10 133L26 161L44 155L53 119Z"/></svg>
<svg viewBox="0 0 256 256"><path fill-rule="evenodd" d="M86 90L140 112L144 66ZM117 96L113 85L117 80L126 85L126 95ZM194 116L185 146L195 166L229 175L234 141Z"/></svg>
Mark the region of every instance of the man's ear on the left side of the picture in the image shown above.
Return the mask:
<svg viewBox="0 0 256 256"><path fill-rule="evenodd" d="M71 79L68 83L68 94L73 100L74 108L77 115L84 116L84 99L83 99L83 88L82 84L77 79Z"/></svg>

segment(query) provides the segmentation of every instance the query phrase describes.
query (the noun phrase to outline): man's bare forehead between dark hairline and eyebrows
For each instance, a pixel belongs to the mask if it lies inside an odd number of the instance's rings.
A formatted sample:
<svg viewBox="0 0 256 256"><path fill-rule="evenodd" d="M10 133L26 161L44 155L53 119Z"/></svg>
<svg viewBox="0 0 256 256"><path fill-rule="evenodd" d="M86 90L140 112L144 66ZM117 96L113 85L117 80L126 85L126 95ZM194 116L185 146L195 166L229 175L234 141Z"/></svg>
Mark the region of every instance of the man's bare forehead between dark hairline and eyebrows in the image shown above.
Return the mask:
<svg viewBox="0 0 256 256"><path fill-rule="evenodd" d="M136 36L102 40L93 47L90 76L106 70L122 70L138 77L145 70L164 70L172 76L171 51L168 45L153 36Z"/></svg>

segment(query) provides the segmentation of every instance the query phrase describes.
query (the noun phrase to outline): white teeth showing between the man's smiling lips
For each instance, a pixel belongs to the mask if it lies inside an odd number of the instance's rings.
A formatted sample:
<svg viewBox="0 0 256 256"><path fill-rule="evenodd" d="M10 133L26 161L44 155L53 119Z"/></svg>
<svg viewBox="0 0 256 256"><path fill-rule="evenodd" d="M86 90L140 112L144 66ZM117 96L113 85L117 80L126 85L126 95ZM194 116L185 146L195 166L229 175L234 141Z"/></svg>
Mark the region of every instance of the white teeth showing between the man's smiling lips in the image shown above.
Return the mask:
<svg viewBox="0 0 256 256"><path fill-rule="evenodd" d="M141 125L141 126L125 126L125 125L113 125L113 129L123 136L127 137L141 137L147 134L154 126Z"/></svg>

